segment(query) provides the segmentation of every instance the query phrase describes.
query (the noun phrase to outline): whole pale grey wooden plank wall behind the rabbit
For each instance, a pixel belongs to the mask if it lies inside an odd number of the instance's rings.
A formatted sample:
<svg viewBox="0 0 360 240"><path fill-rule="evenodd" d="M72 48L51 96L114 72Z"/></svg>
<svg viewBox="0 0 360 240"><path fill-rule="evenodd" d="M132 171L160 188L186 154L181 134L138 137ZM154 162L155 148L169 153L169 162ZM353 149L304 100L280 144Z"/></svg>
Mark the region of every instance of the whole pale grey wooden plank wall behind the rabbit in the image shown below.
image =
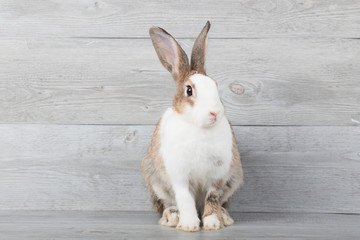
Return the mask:
<svg viewBox="0 0 360 240"><path fill-rule="evenodd" d="M360 213L360 2L0 2L0 210L149 210L140 162L174 84L148 37L207 69L242 153L232 211Z"/></svg>

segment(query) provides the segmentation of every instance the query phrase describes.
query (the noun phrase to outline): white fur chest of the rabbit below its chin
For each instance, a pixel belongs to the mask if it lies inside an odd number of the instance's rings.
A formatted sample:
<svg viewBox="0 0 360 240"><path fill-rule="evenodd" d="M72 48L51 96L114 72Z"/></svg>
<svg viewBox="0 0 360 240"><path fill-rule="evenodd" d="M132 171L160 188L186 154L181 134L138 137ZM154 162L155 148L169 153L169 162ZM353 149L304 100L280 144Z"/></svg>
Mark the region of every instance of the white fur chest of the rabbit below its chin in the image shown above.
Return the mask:
<svg viewBox="0 0 360 240"><path fill-rule="evenodd" d="M161 120L161 148L171 181L195 181L206 186L221 179L232 160L232 133L223 117L215 126L200 128L169 109Z"/></svg>

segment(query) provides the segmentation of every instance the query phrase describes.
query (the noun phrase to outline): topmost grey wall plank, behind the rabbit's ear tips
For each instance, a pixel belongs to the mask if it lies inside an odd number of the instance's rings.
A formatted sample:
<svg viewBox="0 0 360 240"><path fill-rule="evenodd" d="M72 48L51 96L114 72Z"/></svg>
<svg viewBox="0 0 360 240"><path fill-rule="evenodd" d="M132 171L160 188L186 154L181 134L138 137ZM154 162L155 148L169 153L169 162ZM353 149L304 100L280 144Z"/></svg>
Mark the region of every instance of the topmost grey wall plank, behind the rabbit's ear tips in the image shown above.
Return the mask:
<svg viewBox="0 0 360 240"><path fill-rule="evenodd" d="M194 38L207 20L210 37L360 37L357 0L130 1L3 0L1 36L148 37L159 25L177 37Z"/></svg>

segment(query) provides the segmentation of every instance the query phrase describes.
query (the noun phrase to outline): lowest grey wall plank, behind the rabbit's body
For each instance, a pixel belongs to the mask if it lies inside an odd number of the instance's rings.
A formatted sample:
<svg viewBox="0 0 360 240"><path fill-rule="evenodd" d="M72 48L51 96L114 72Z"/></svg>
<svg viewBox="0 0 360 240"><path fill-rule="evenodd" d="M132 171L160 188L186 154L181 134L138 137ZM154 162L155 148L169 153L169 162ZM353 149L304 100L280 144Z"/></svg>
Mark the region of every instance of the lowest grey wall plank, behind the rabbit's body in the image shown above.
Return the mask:
<svg viewBox="0 0 360 240"><path fill-rule="evenodd" d="M0 210L150 210L153 126L0 125ZM231 211L360 213L358 127L235 127Z"/></svg>

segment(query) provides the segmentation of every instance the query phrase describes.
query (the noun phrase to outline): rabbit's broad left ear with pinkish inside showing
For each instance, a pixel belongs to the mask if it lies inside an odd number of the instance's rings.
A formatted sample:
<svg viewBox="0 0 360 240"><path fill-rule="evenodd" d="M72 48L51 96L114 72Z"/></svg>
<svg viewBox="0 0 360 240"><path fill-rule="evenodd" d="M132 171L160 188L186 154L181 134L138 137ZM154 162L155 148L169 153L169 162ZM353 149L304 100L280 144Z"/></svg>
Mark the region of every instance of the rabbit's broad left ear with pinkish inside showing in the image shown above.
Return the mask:
<svg viewBox="0 0 360 240"><path fill-rule="evenodd" d="M189 59L175 38L159 27L151 27L149 34L161 64L175 81L183 79L190 70Z"/></svg>

